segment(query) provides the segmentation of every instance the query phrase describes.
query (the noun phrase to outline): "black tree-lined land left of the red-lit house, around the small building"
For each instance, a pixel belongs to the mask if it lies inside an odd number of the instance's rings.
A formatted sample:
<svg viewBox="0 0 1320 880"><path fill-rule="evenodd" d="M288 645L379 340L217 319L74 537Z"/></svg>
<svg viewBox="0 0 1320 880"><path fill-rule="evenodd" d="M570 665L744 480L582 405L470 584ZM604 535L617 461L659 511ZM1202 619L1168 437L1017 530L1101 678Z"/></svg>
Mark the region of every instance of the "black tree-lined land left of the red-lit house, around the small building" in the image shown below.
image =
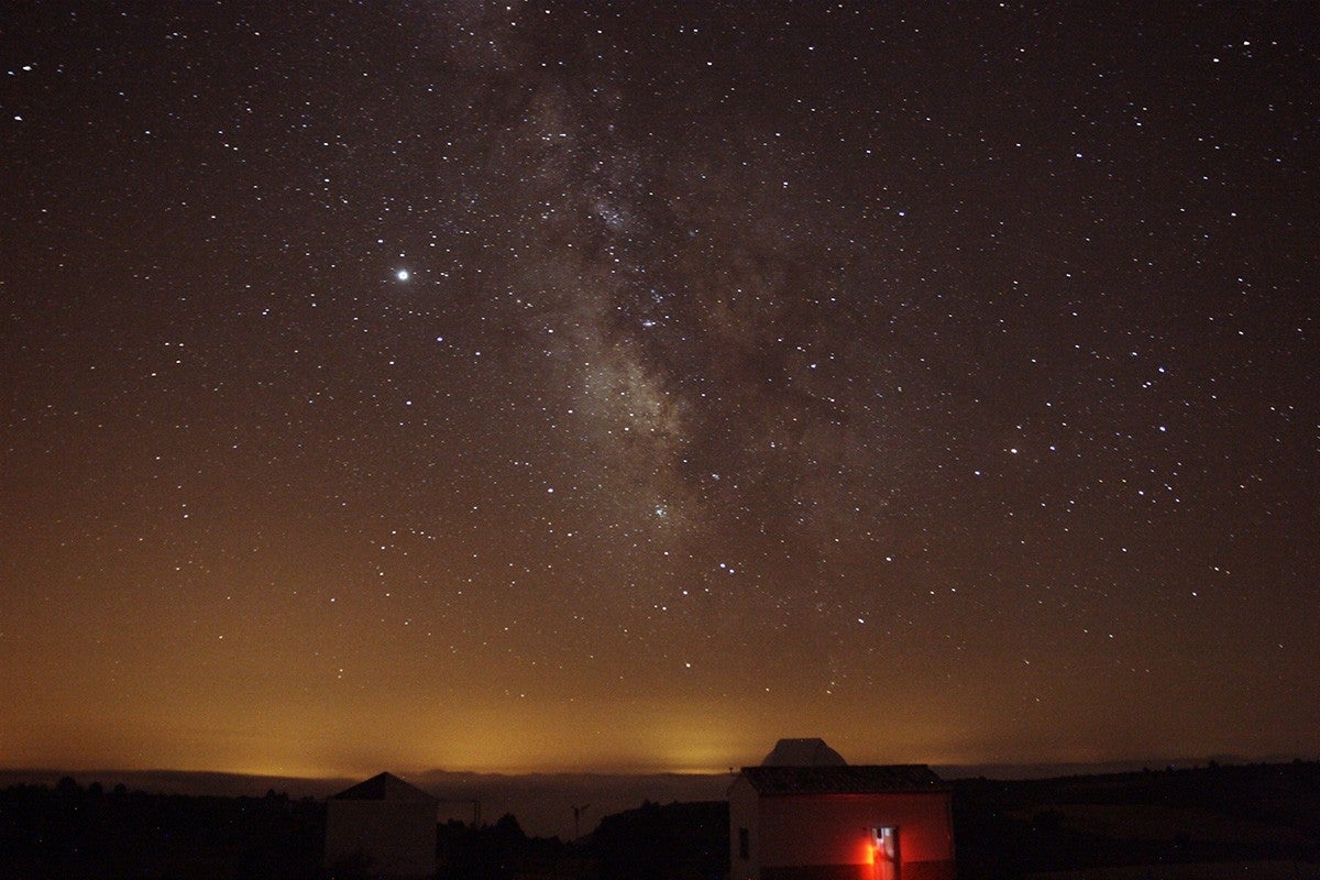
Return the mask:
<svg viewBox="0 0 1320 880"><path fill-rule="evenodd" d="M321 865L325 801L110 792L73 778L0 790L0 879L352 880L362 865ZM440 880L709 879L725 873L723 801L659 805L605 817L579 843L531 838L517 819L437 827Z"/></svg>

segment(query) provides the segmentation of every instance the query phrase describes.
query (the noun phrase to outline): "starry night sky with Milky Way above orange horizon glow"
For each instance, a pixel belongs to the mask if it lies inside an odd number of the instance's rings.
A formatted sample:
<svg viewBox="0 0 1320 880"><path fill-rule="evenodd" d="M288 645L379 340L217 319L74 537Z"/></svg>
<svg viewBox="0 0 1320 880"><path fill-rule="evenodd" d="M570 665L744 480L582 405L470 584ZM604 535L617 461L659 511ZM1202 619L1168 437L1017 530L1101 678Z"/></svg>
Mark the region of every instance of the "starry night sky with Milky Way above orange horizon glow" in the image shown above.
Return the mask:
<svg viewBox="0 0 1320 880"><path fill-rule="evenodd" d="M0 12L0 763L1320 755L1308 4Z"/></svg>

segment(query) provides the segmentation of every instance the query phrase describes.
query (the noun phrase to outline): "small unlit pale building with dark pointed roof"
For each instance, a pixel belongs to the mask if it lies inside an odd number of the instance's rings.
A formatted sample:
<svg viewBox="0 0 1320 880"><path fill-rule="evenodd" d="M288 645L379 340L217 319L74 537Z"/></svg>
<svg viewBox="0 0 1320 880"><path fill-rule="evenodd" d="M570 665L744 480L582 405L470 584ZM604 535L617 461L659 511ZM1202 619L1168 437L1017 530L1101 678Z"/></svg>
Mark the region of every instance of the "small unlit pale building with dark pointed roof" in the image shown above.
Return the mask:
<svg viewBox="0 0 1320 880"><path fill-rule="evenodd" d="M389 773L345 789L326 802L325 865L372 877L429 877L438 809L437 798Z"/></svg>

